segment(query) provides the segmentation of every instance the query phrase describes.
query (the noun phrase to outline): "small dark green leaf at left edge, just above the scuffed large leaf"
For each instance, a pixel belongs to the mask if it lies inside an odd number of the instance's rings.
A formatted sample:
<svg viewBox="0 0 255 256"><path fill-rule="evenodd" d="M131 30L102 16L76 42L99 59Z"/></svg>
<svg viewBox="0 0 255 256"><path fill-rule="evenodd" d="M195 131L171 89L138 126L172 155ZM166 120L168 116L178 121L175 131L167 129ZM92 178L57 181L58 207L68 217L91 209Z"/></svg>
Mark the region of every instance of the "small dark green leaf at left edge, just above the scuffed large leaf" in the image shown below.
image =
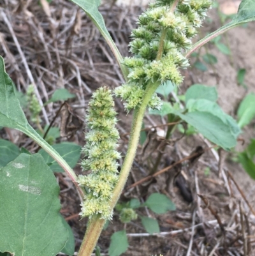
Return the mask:
<svg viewBox="0 0 255 256"><path fill-rule="evenodd" d="M8 140L0 139L0 167L7 165L20 154L20 149Z"/></svg>

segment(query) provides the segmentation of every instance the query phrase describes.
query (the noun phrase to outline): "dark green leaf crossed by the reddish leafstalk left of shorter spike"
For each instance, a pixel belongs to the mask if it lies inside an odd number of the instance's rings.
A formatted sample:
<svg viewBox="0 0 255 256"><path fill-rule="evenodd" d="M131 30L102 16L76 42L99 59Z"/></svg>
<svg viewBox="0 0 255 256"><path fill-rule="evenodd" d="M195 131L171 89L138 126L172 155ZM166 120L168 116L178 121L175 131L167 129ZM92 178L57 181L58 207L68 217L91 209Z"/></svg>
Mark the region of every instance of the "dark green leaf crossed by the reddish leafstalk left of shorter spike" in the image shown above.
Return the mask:
<svg viewBox="0 0 255 256"><path fill-rule="evenodd" d="M59 144L54 144L52 147L62 156L62 158L64 158L64 160L66 160L71 168L75 167L80 159L80 151L82 149L81 146L71 142L62 142ZM52 163L52 165L49 167L53 172L64 171L62 167L60 167L59 164L44 149L40 149L38 153L43 156L46 163Z"/></svg>

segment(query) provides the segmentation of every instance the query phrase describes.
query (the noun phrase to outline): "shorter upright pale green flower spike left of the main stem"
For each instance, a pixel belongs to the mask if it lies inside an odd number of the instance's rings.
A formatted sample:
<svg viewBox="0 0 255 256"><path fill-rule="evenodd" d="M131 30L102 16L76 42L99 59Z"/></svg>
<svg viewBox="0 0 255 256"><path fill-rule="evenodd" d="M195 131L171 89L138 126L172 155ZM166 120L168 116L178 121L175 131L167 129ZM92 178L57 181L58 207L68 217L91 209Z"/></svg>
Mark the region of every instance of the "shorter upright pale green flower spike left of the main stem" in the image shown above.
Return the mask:
<svg viewBox="0 0 255 256"><path fill-rule="evenodd" d="M114 102L110 90L101 87L89 102L87 110L86 144L82 151L83 170L91 170L87 176L79 176L78 183L88 192L82 203L82 216L91 217L100 214L106 220L112 218L109 200L112 199L113 188L118 181L117 160L120 153L116 150L119 132Z"/></svg>

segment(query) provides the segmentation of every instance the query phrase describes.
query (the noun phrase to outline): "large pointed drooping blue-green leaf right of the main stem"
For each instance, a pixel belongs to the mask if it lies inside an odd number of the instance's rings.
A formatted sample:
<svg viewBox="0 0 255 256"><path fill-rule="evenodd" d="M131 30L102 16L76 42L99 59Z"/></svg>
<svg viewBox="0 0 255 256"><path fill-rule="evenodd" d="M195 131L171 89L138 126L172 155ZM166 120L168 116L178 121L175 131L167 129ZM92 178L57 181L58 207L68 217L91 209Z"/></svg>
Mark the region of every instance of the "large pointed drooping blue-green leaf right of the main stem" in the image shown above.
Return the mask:
<svg viewBox="0 0 255 256"><path fill-rule="evenodd" d="M191 124L211 142L230 150L237 144L236 136L232 134L231 126L224 123L219 117L208 112L191 112L180 114L175 112L182 120Z"/></svg>

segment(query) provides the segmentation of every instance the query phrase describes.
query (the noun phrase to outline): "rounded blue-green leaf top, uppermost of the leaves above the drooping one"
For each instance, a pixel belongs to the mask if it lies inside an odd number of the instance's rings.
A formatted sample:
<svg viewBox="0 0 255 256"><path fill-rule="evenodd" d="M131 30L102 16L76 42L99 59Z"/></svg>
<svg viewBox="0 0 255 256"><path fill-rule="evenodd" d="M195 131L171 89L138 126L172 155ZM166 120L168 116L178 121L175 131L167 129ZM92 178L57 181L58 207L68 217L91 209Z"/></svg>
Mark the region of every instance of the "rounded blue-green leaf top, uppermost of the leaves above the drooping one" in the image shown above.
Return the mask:
<svg viewBox="0 0 255 256"><path fill-rule="evenodd" d="M193 84L193 86L187 89L185 94L185 102L189 102L189 100L194 99L206 99L211 102L216 102L218 98L218 94L215 87L212 86L204 86L203 84Z"/></svg>

